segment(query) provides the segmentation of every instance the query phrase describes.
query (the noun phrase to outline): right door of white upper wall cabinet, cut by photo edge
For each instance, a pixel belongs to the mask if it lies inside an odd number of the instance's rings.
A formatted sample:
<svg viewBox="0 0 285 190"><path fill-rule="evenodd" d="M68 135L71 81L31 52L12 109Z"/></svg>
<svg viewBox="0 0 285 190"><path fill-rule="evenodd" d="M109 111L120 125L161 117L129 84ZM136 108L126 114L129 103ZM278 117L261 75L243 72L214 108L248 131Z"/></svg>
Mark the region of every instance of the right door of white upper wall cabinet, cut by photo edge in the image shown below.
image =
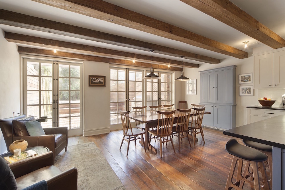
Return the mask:
<svg viewBox="0 0 285 190"><path fill-rule="evenodd" d="M273 87L285 87L285 51L273 53Z"/></svg>

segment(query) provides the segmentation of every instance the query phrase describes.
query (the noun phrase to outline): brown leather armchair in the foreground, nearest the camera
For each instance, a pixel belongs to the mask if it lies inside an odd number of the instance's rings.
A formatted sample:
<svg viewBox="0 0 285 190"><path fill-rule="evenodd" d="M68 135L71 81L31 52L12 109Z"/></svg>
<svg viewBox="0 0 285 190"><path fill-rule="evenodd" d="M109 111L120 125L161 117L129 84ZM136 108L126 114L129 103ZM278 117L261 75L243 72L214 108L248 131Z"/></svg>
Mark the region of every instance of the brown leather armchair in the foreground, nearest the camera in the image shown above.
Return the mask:
<svg viewBox="0 0 285 190"><path fill-rule="evenodd" d="M45 180L48 189L77 189L77 169L72 167L61 171L54 166L52 152L46 152L19 162L9 164L18 185L23 189Z"/></svg>

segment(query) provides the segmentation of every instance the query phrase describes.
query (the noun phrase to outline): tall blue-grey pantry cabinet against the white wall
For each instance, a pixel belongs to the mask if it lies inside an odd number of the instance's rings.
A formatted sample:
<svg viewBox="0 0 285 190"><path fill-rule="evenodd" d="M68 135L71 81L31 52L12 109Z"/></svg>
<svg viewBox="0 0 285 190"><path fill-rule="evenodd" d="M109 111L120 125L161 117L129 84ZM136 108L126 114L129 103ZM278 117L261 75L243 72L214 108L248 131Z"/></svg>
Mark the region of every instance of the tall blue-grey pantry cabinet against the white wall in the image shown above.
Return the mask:
<svg viewBox="0 0 285 190"><path fill-rule="evenodd" d="M235 128L236 67L200 71L200 104L205 104L205 111L211 112L203 116L203 125L219 129Z"/></svg>

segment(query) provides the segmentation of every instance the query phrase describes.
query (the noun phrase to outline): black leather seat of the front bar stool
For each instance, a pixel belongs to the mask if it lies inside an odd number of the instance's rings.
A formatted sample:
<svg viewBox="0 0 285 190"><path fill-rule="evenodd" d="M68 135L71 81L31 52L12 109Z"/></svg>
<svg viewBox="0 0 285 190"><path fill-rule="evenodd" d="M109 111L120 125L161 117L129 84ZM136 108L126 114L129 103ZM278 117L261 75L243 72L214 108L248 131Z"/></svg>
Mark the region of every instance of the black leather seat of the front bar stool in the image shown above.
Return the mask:
<svg viewBox="0 0 285 190"><path fill-rule="evenodd" d="M244 160L254 162L264 162L267 160L267 156L265 154L254 148L239 144L234 138L227 142L225 149L229 154Z"/></svg>

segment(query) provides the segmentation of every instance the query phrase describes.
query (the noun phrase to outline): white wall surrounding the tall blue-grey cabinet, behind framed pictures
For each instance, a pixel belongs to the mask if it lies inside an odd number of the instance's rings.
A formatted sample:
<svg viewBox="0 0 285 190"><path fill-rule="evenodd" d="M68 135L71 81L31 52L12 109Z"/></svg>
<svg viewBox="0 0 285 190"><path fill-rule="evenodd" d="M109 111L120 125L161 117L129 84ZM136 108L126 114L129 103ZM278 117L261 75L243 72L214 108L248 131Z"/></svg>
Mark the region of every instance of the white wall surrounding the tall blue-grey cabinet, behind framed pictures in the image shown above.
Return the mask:
<svg viewBox="0 0 285 190"><path fill-rule="evenodd" d="M243 73L253 73L254 71L254 57L252 52L249 53L249 58L246 59L237 59L237 58L227 58L221 60L220 64L201 64L199 68L184 68L184 76L190 79L197 79L197 95L186 95L186 82L182 88L181 93L184 94L183 100L186 100L188 106L191 103L198 104L200 103L200 72L203 70L209 70L214 68L221 68L231 65L237 65L236 68L236 126L242 126L247 124L247 106L257 105L257 90L254 89L253 96L240 96L239 95L239 74ZM253 85L253 83L248 83L246 86ZM245 86L243 84L243 86Z"/></svg>

